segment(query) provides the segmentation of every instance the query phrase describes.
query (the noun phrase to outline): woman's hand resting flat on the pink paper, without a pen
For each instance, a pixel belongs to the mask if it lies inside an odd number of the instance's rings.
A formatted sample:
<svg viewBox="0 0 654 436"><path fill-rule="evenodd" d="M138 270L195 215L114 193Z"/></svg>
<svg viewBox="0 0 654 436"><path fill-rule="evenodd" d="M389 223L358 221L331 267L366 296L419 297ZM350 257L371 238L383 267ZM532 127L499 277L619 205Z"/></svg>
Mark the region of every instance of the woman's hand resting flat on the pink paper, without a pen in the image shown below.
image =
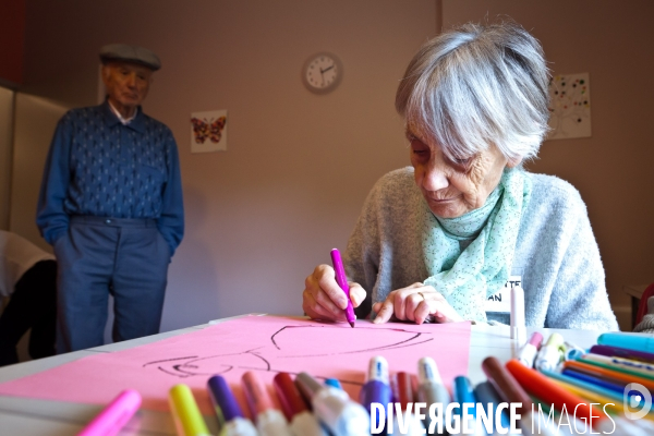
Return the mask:
<svg viewBox="0 0 654 436"><path fill-rule="evenodd" d="M375 324L386 323L393 316L415 324L424 323L427 317L436 323L463 320L440 292L423 283L390 292L384 302L373 304L373 311L377 313Z"/></svg>

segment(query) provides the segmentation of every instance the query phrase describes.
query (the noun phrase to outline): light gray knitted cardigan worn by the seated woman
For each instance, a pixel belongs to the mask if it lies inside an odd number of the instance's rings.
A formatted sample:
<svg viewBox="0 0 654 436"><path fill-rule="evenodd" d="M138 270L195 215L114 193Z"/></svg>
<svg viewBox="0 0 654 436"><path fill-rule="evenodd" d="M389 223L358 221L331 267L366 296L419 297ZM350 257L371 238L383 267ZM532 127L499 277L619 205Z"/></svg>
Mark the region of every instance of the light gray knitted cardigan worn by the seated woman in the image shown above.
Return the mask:
<svg viewBox="0 0 654 436"><path fill-rule="evenodd" d="M600 250L579 192L556 177L532 174L511 275L522 277L526 325L617 330ZM395 289L426 279L420 232L423 196L411 167L375 184L348 242L348 277L367 292L358 316ZM489 320L507 317L488 314Z"/></svg>

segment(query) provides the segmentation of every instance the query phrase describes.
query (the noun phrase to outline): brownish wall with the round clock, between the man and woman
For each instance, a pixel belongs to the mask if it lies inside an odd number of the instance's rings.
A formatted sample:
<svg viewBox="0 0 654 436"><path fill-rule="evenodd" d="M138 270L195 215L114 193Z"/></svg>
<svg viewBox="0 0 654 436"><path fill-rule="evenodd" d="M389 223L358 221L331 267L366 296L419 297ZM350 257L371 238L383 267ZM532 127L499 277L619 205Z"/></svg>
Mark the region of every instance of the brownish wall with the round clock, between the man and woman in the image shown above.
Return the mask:
<svg viewBox="0 0 654 436"><path fill-rule="evenodd" d="M23 90L64 105L96 102L105 44L162 60L144 109L179 142L186 210L165 330L301 314L304 278L344 247L375 180L408 164L395 89L437 23L433 0L29 0L26 20ZM316 96L300 70L324 50L344 77ZM191 155L190 113L213 109L229 110L229 149Z"/></svg>

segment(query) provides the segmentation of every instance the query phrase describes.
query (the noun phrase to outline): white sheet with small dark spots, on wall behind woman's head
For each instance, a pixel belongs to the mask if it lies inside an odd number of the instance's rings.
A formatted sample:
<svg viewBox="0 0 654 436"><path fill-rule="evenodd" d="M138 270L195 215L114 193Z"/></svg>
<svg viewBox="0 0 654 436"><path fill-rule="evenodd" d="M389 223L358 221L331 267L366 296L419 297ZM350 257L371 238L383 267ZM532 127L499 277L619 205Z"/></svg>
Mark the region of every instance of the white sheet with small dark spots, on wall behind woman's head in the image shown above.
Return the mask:
<svg viewBox="0 0 654 436"><path fill-rule="evenodd" d="M591 136L591 83L589 73L560 74L549 81L547 140Z"/></svg>

